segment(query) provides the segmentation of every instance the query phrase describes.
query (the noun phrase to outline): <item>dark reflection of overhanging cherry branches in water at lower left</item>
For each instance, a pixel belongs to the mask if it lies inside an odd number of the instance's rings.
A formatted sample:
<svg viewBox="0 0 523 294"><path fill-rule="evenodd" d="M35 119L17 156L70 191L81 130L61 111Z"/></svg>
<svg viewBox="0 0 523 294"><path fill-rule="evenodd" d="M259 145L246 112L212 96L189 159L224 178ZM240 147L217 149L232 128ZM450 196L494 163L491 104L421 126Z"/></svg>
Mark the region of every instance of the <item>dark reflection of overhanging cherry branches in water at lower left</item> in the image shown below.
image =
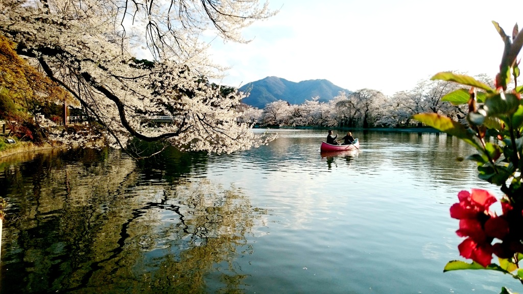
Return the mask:
<svg viewBox="0 0 523 294"><path fill-rule="evenodd" d="M33 160L32 174L14 168L25 182L7 192L16 218L4 224L1 292L242 287L233 261L252 252L246 234L266 212L241 191L205 179L144 184L135 162L118 152L87 165L55 157ZM217 278L206 285L209 276Z"/></svg>

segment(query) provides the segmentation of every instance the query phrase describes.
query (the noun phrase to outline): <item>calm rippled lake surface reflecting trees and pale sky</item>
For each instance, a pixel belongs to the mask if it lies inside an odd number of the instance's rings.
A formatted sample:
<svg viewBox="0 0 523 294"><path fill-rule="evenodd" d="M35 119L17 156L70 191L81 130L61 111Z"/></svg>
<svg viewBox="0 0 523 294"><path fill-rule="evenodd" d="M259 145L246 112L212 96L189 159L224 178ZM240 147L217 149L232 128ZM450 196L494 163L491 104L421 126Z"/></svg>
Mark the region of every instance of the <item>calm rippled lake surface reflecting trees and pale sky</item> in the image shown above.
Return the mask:
<svg viewBox="0 0 523 294"><path fill-rule="evenodd" d="M522 291L499 273L442 272L461 259L449 216L458 191L501 196L457 160L468 145L353 132L360 151L321 154L325 131L274 131L268 146L229 155L137 163L75 150L0 162L0 292Z"/></svg>

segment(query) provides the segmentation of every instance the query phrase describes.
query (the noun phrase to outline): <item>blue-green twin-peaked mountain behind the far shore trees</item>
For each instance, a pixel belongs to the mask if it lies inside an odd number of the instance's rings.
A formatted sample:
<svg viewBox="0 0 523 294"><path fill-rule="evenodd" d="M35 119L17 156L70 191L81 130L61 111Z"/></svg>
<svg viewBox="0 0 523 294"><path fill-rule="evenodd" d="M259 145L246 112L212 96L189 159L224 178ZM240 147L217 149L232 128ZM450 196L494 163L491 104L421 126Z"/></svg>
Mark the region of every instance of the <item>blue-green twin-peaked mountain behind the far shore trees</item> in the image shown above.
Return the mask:
<svg viewBox="0 0 523 294"><path fill-rule="evenodd" d="M249 93L248 97L242 99L243 103L258 108L264 108L267 103L277 100L285 100L289 104L303 104L305 100L320 96L320 102L327 102L337 96L340 91L345 91L347 94L353 93L327 80L295 83L277 76L268 76L263 80L247 83L239 90Z"/></svg>

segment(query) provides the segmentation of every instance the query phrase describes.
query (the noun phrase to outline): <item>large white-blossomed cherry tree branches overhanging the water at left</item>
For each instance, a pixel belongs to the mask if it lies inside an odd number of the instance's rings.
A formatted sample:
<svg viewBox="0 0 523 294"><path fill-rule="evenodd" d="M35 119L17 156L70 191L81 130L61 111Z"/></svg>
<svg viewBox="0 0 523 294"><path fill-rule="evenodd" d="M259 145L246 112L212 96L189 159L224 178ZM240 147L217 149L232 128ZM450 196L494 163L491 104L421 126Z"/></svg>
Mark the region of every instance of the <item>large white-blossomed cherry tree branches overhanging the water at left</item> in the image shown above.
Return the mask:
<svg viewBox="0 0 523 294"><path fill-rule="evenodd" d="M0 30L17 53L38 61L92 119L90 131L115 148L134 138L182 150L233 152L264 144L241 122L242 93L210 84L220 67L201 36L244 42L240 30L274 15L258 0L0 0ZM151 61L137 60L145 48ZM218 71L219 72L219 71ZM168 116L168 122L153 117ZM79 140L66 133L62 141ZM77 136L76 136L77 137ZM93 138L84 138L92 141Z"/></svg>

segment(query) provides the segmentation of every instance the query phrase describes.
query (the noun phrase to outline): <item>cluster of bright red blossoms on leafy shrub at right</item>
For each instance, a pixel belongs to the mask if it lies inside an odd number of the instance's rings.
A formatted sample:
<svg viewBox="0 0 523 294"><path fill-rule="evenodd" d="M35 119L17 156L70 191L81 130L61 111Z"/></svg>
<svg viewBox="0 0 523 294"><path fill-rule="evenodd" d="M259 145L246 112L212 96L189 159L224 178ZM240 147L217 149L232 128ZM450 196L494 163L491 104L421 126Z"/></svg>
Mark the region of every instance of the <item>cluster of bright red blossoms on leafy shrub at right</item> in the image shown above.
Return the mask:
<svg viewBox="0 0 523 294"><path fill-rule="evenodd" d="M492 260L491 242L508 233L508 223L488 210L497 199L486 190L472 189L471 193L463 190L458 199L459 203L450 207L450 216L460 220L456 234L468 237L458 246L460 255L486 267Z"/></svg>

